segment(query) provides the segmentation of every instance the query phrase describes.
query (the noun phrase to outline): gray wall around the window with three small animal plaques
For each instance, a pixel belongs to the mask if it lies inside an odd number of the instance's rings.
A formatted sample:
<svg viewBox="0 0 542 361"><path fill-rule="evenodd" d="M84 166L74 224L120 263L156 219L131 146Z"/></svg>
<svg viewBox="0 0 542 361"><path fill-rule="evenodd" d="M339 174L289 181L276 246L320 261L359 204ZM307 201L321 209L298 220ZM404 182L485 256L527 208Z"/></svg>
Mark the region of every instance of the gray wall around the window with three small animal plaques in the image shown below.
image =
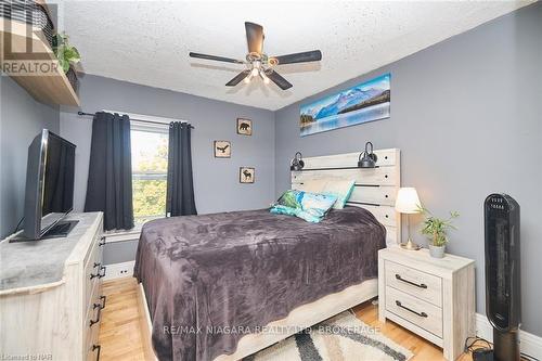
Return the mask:
<svg viewBox="0 0 542 361"><path fill-rule="evenodd" d="M255 107L86 76L79 90L81 108L124 111L186 119L194 125L192 157L194 191L199 214L263 208L274 197L274 114ZM253 136L236 133L236 118L253 119ZM75 209L82 210L87 191L92 118L61 113L61 136L77 144ZM214 140L230 140L232 157L217 159ZM256 168L256 182L241 184L238 168ZM114 248L115 247L115 248ZM109 249L111 248L111 252ZM107 247L107 263L132 260L136 243Z"/></svg>

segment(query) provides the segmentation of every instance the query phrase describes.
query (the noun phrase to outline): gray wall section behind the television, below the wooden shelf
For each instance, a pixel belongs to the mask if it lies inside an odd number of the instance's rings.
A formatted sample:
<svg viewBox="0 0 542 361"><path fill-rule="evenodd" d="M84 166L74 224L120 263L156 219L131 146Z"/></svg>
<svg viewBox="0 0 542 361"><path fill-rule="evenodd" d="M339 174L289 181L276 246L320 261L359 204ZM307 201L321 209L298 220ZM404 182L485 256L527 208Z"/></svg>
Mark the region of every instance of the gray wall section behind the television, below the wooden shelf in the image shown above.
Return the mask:
<svg viewBox="0 0 542 361"><path fill-rule="evenodd" d="M24 214L28 145L41 129L59 133L59 109L36 102L11 78L0 75L0 238Z"/></svg>

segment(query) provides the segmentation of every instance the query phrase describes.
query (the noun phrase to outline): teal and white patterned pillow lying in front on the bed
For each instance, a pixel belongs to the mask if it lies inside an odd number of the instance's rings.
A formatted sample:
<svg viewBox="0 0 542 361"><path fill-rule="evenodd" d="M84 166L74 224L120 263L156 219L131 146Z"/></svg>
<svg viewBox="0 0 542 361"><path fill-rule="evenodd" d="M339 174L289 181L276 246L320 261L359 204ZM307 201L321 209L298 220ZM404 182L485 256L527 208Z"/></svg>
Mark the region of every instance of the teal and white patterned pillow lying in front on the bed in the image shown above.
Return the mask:
<svg viewBox="0 0 542 361"><path fill-rule="evenodd" d="M308 222L318 223L337 201L335 195L315 194L304 191L286 191L270 209L272 214L296 216Z"/></svg>

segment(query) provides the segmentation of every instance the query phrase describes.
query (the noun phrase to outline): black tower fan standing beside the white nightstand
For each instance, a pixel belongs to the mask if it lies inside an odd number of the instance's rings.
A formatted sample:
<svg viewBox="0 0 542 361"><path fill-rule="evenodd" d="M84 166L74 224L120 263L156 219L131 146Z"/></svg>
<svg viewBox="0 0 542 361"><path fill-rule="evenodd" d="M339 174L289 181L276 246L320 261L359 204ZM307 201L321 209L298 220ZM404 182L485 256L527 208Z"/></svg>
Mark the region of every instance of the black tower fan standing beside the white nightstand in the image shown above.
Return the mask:
<svg viewBox="0 0 542 361"><path fill-rule="evenodd" d="M491 194L486 198L483 214L486 313L493 326L493 360L519 361L519 204L509 195Z"/></svg>

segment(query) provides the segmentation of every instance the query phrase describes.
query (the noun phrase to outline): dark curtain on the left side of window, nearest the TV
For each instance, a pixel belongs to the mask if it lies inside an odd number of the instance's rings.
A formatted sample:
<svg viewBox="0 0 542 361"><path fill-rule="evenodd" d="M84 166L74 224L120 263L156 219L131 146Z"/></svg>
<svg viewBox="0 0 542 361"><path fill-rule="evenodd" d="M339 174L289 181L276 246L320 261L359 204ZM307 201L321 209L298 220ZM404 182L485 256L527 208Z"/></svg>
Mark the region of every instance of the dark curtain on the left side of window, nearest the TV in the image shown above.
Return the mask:
<svg viewBox="0 0 542 361"><path fill-rule="evenodd" d="M104 229L133 228L130 118L100 112L92 120L85 211L104 212Z"/></svg>

